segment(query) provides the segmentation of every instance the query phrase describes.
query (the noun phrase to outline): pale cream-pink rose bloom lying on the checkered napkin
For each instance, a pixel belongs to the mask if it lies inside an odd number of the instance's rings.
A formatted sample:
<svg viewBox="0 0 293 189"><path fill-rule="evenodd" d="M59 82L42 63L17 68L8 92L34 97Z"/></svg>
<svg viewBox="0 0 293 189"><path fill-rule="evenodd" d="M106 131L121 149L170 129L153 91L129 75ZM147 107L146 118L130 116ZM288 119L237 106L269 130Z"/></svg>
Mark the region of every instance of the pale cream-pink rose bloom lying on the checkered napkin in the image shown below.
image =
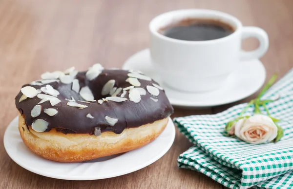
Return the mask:
<svg viewBox="0 0 293 189"><path fill-rule="evenodd" d="M272 119L262 114L240 119L234 128L238 138L252 144L271 142L277 136L278 131Z"/></svg>

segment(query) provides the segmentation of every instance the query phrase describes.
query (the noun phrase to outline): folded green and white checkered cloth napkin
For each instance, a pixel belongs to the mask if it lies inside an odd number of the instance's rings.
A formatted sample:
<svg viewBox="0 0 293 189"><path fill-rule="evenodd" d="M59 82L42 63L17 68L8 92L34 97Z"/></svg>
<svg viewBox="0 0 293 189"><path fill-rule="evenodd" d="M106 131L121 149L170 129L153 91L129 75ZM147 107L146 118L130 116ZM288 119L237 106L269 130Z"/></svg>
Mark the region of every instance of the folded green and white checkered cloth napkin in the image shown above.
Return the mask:
<svg viewBox="0 0 293 189"><path fill-rule="evenodd" d="M280 99L267 105L284 136L277 143L253 145L224 136L225 124L247 106L222 113L174 118L178 129L194 144L178 158L178 166L198 170L230 189L293 188L293 69L274 84L263 99ZM265 113L264 110L262 110ZM249 108L245 115L252 115Z"/></svg>

